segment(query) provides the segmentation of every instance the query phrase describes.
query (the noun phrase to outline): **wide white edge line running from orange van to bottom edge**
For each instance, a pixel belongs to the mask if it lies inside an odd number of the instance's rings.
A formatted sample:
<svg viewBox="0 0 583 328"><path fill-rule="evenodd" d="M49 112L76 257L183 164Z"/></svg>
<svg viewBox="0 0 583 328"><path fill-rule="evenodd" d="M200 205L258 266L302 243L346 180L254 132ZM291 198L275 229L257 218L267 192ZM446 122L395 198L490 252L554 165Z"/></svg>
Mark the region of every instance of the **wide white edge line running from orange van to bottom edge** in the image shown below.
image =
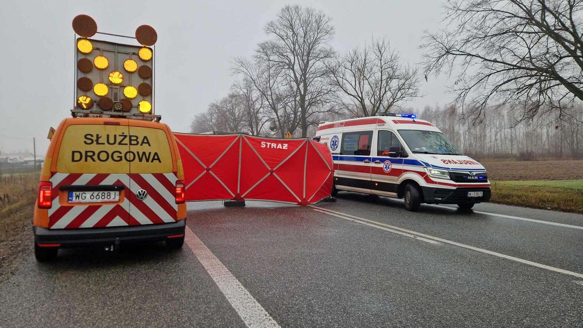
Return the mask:
<svg viewBox="0 0 583 328"><path fill-rule="evenodd" d="M186 228L184 241L192 250L210 277L213 278L231 306L250 328L281 328L271 318L263 306L245 289L229 269L196 237L190 228Z"/></svg>

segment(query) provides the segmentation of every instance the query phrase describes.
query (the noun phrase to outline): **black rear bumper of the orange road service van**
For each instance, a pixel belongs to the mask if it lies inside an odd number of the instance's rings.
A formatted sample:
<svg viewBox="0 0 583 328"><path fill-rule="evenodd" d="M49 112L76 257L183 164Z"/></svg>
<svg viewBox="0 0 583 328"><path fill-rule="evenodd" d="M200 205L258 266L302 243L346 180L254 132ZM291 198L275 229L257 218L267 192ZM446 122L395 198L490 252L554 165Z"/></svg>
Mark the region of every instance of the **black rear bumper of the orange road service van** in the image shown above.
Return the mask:
<svg viewBox="0 0 583 328"><path fill-rule="evenodd" d="M33 232L37 244L61 244L60 248L75 248L164 241L168 240L168 236L184 234L185 228L186 220L179 220L110 228L48 229L33 226Z"/></svg>

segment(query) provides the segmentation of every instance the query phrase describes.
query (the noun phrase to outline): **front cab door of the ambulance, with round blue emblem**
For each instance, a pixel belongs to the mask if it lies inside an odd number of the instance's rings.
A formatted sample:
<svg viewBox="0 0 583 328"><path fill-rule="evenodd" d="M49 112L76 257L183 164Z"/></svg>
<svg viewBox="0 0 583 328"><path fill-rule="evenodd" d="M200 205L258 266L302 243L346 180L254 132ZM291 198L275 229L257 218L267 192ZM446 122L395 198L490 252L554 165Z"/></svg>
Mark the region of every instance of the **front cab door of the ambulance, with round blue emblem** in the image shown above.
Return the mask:
<svg viewBox="0 0 583 328"><path fill-rule="evenodd" d="M403 146L395 133L387 130L379 130L376 140L375 154L371 160L371 189L373 193L396 197L397 182L403 173L403 158L390 157L389 147L399 146L399 149L403 149Z"/></svg>

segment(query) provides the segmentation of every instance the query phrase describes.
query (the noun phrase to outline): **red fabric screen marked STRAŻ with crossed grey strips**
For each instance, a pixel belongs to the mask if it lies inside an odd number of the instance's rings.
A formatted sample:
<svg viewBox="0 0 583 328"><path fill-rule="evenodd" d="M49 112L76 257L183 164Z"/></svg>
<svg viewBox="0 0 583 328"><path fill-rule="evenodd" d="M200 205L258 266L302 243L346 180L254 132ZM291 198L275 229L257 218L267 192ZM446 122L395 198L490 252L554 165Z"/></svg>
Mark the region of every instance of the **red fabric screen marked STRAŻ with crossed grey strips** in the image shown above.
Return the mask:
<svg viewBox="0 0 583 328"><path fill-rule="evenodd" d="M332 155L325 144L307 138L174 136L187 201L255 199L307 205L332 191Z"/></svg>

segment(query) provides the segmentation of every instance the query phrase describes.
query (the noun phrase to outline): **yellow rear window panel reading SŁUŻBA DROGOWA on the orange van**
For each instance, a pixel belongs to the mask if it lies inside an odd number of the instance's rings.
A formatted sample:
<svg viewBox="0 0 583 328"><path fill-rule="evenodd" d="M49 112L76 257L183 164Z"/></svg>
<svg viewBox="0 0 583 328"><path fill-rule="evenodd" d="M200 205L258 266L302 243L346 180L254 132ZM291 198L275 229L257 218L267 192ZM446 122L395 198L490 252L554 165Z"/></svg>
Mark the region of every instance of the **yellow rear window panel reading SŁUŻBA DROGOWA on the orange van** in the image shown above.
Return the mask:
<svg viewBox="0 0 583 328"><path fill-rule="evenodd" d="M57 156L61 173L166 173L172 155L166 132L124 125L71 125Z"/></svg>

